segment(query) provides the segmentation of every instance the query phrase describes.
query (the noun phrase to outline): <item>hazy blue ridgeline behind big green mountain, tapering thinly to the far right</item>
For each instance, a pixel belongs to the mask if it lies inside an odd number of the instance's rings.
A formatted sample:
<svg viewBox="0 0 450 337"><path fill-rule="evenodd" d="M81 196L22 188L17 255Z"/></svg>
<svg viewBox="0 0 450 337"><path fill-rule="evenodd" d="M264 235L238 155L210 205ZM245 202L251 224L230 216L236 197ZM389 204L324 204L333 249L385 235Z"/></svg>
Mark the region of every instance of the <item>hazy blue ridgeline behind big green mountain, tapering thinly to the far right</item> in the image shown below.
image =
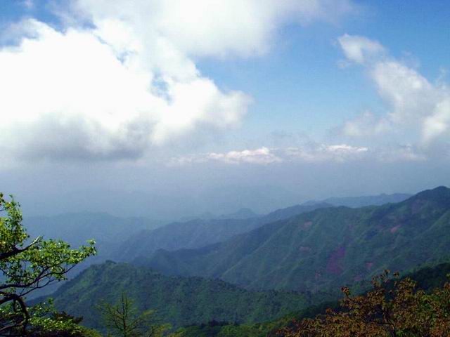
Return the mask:
<svg viewBox="0 0 450 337"><path fill-rule="evenodd" d="M305 204L277 209L264 216L250 209L240 209L235 213L222 216L203 214L200 218L169 223L154 230L142 230L131 235L109 258L117 261L132 261L140 256L150 256L158 249L174 251L176 249L195 249L224 242L227 239L255 230L262 225L285 220L301 213L323 209L335 205L371 205L403 201L409 194L380 194L368 197L330 198L326 201L309 201Z"/></svg>

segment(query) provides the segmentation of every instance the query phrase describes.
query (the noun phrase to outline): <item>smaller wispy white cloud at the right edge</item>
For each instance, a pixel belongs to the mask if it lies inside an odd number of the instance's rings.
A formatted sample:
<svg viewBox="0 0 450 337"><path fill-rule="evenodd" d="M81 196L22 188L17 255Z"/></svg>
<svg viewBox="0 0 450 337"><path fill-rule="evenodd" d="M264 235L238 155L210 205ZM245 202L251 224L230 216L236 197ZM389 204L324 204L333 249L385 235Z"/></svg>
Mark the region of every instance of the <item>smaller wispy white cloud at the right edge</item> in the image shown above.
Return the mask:
<svg viewBox="0 0 450 337"><path fill-rule="evenodd" d="M339 39L342 51L352 62L364 64L388 111L380 117L364 112L341 128L349 137L397 136L414 138L428 147L440 136L449 136L450 90L432 84L418 70L386 55L385 48L364 37L345 35ZM370 55L370 57L368 56Z"/></svg>

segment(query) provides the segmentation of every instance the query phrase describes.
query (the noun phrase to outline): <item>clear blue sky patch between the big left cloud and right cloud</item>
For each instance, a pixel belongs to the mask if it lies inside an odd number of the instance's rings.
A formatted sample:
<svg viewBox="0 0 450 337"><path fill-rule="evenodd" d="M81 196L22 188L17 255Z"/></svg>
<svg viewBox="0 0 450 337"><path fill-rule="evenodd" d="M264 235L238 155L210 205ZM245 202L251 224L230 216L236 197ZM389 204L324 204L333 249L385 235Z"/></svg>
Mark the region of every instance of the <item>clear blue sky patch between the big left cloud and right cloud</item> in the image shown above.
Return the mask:
<svg viewBox="0 0 450 337"><path fill-rule="evenodd" d="M200 61L221 86L252 94L252 132L313 131L319 135L368 107L383 110L373 84L360 69L337 67L342 34L376 39L397 58L416 63L435 81L450 69L450 4L446 1L359 1L359 15L335 25L284 27L264 58ZM269 82L269 83L268 83ZM264 84L264 85L262 85Z"/></svg>

